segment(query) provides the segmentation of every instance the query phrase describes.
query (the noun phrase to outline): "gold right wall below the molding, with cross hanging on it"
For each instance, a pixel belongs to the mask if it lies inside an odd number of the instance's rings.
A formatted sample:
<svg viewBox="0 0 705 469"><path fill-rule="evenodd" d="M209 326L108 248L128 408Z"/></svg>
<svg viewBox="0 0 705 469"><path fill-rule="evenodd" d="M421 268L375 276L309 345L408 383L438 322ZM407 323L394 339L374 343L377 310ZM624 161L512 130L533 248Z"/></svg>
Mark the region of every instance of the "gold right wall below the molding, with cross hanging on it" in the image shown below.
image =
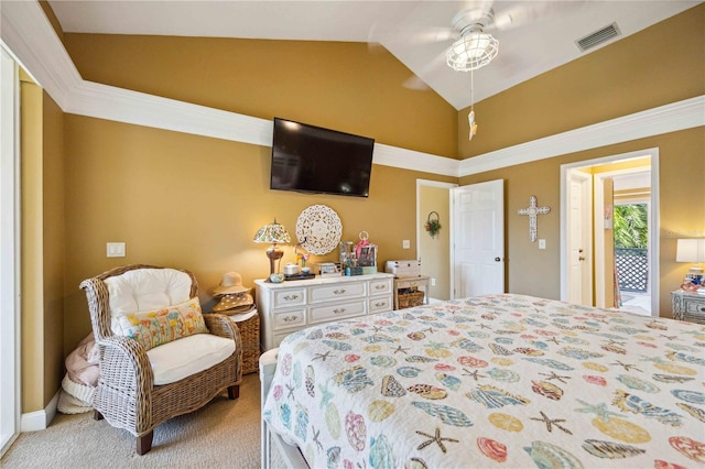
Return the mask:
<svg viewBox="0 0 705 469"><path fill-rule="evenodd" d="M507 290L549 298L560 298L560 201L561 165L603 156L659 149L660 206L660 315L672 317L671 292L681 284L684 272L675 263L677 238L705 237L705 128L671 132L600 149L572 153L535 163L510 166L460 178L460 185L505 179L507 217ZM684 194L687 199L684 203ZM551 212L539 217L539 238L546 250L529 241L527 217L517 215L535 195Z"/></svg>

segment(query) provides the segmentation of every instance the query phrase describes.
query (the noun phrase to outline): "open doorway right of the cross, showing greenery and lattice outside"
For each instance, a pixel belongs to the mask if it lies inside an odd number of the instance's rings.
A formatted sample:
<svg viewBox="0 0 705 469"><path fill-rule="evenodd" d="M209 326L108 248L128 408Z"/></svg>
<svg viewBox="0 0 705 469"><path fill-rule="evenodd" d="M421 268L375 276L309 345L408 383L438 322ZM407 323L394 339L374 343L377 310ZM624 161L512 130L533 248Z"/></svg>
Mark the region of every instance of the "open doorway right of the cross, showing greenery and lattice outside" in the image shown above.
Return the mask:
<svg viewBox="0 0 705 469"><path fill-rule="evenodd" d="M654 212L659 206L658 163L658 149L649 149L561 166L562 299L572 302L576 288L575 276L571 274L575 257L571 250L571 239L575 234L572 231L570 197L574 174L579 172L593 179L592 200L584 205L594 207L593 229L586 242L594 246L593 260L589 262L594 271L594 287L592 303L584 304L619 307L643 315L653 315L659 310L659 265L654 254L659 252L659 217ZM648 228L642 243L647 247L639 248L639 251L623 251L617 243L618 249L615 250L615 207L631 204L643 204ZM638 292L634 285L639 285Z"/></svg>

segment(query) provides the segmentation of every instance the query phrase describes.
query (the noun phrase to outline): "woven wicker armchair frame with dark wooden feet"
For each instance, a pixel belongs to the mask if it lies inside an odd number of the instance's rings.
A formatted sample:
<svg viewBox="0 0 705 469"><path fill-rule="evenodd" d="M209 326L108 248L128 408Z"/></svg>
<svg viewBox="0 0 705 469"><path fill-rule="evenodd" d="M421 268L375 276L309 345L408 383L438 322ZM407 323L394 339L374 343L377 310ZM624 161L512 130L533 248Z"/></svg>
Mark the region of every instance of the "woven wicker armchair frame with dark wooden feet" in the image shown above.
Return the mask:
<svg viewBox="0 0 705 469"><path fill-rule="evenodd" d="M150 271L153 269L161 271ZM238 327L225 315L205 314L203 319L210 335L228 338L235 342L232 348L227 341L217 339L217 342L228 346L224 353L230 353L230 349L235 351L208 369L175 382L154 384L151 356L148 356L145 347L139 340L113 334L111 329L111 307L119 309L115 306L117 302L115 297L123 294L123 292L116 293L115 282L129 284L139 280L140 275L150 273L155 276L173 274L180 279L180 282L176 282L177 285L174 285L174 282L164 282L167 284L162 288L175 291L171 293L171 298L165 305L153 304L155 298L163 296L164 290L151 294L144 292L143 286L135 285L135 296L139 293L141 297L145 294L149 297L139 304L140 307L137 310L142 310L141 306L150 302L152 304L149 308L167 307L184 301L183 298L188 301L197 297L198 283L191 272L164 270L153 265L135 264L117 268L80 283L80 288L86 292L88 299L90 321L100 355L100 379L93 401L94 418L105 417L111 426L123 428L134 435L139 455L144 455L152 448L153 429L164 421L204 406L225 389L228 390L229 399L239 397L239 384L242 378L242 347ZM188 275L191 282L184 273ZM110 292L113 295L112 299ZM198 336L198 340L213 340L209 335L199 334ZM172 343L184 343L186 339L174 340ZM158 346L154 349L160 347L165 346ZM203 353L203 357L209 359L207 353Z"/></svg>

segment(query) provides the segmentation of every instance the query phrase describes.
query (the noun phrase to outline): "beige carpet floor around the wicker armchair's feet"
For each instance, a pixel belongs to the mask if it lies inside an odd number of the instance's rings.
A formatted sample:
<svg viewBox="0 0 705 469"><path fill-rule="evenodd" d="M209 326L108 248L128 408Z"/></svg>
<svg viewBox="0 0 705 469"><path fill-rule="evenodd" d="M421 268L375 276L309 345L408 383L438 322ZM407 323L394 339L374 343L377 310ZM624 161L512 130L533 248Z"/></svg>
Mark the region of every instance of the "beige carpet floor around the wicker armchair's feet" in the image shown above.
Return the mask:
<svg viewBox="0 0 705 469"><path fill-rule="evenodd" d="M260 382L247 374L240 397L224 393L205 407L154 429L152 450L138 456L134 438L94 421L93 413L57 414L48 428L20 435L0 460L13 468L259 468Z"/></svg>

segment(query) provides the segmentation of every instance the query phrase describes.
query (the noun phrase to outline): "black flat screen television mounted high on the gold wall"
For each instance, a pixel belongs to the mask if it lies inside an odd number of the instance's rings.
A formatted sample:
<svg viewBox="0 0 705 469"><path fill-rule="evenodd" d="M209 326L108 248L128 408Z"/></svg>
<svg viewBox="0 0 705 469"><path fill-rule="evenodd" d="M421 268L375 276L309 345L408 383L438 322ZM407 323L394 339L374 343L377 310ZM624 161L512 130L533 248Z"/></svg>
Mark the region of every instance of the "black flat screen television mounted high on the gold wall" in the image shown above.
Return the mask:
<svg viewBox="0 0 705 469"><path fill-rule="evenodd" d="M270 188L368 197L375 140L274 118Z"/></svg>

